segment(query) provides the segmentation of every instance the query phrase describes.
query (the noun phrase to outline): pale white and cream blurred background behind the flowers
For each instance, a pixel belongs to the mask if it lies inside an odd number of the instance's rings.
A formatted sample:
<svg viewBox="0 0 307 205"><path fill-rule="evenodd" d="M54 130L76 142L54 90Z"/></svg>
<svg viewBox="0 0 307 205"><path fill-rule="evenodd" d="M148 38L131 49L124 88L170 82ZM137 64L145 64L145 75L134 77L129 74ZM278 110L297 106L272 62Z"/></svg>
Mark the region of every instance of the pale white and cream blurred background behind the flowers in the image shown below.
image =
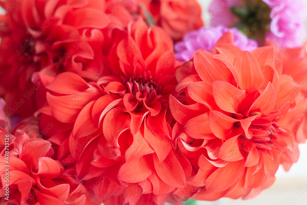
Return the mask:
<svg viewBox="0 0 307 205"><path fill-rule="evenodd" d="M202 18L209 25L208 6L212 0L197 0L202 7ZM296 1L296 0L293 0ZM305 0L307 5L307 0ZM307 11L307 8L305 8ZM307 21L305 22L307 28ZM222 198L214 202L196 201L197 205L306 205L307 204L307 144L300 144L300 159L290 171L280 167L276 181L270 188L251 200Z"/></svg>

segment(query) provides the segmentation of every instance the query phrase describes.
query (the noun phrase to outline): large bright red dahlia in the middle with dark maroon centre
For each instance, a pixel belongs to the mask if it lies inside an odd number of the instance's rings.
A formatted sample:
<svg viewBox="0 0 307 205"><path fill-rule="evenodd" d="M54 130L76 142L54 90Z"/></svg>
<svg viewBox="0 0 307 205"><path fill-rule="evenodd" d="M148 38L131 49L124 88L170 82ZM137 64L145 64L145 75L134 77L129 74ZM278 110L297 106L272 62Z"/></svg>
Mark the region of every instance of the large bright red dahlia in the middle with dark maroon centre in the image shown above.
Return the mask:
<svg viewBox="0 0 307 205"><path fill-rule="evenodd" d="M180 65L172 40L139 19L108 59L112 76L86 82L66 72L46 86L41 130L54 126L45 139L59 145L65 174L84 181L92 199L106 205L177 203L181 198L172 193L185 186L192 169L171 148L168 101Z"/></svg>

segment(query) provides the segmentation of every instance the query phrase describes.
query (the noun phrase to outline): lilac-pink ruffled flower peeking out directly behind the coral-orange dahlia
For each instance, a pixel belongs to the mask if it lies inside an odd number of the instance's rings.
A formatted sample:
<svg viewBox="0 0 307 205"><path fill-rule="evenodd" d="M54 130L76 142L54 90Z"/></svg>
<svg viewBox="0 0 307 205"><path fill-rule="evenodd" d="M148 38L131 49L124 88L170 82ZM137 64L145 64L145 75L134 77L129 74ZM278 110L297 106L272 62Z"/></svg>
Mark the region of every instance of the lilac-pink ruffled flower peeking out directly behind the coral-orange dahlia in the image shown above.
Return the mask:
<svg viewBox="0 0 307 205"><path fill-rule="evenodd" d="M234 36L234 45L242 50L252 51L258 47L255 40L248 39L237 28L227 28L226 26L212 26L209 28L201 27L199 30L191 31L185 35L183 41L175 44L176 59L184 62L192 57L193 53L198 49L210 51L216 45L216 42L227 31Z"/></svg>

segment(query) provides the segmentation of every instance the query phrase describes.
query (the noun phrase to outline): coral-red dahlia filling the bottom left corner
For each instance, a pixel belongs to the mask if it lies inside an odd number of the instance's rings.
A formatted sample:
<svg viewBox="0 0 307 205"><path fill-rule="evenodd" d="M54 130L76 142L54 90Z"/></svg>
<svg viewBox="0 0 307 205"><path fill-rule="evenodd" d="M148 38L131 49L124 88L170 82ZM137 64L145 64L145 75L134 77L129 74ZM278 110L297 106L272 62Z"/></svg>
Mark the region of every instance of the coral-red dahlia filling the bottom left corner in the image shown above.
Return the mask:
<svg viewBox="0 0 307 205"><path fill-rule="evenodd" d="M3 102L3 99L0 101ZM0 112L3 113L3 103ZM63 166L51 158L54 153L51 142L30 138L26 132L17 129L26 127L28 133L33 133L37 127L32 129L23 123L16 127L12 135L3 127L10 124L9 120L2 120L5 123L0 124L0 165L3 168L0 171L1 204L100 204L88 200L85 187L74 177L63 175Z"/></svg>

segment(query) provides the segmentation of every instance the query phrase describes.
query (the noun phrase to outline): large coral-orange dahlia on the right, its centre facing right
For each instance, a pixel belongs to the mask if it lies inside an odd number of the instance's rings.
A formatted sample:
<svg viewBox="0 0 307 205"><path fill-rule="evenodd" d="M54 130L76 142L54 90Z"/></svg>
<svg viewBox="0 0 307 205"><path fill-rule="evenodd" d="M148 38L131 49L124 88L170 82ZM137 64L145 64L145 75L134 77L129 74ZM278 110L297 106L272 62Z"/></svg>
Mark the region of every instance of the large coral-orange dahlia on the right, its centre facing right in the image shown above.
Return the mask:
<svg viewBox="0 0 307 205"><path fill-rule="evenodd" d="M227 33L212 49L218 54L196 51L176 74L185 102L169 99L173 146L196 172L187 181L199 190L194 199L253 198L299 155L295 130L279 125L293 117L299 85L279 72L273 47L250 53L232 42Z"/></svg>

